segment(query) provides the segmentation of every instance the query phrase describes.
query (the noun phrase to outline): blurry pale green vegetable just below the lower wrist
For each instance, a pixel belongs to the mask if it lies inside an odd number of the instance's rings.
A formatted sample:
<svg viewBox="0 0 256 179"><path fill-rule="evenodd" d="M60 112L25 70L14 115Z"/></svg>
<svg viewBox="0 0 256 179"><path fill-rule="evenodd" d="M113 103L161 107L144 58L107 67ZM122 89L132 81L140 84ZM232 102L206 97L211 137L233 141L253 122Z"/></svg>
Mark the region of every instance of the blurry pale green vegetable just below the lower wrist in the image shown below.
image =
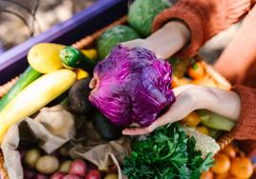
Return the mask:
<svg viewBox="0 0 256 179"><path fill-rule="evenodd" d="M200 117L202 119L202 124L205 127L211 129L222 129L230 131L235 126L235 123L231 120L225 118L222 115L214 113L208 110L199 110Z"/></svg>

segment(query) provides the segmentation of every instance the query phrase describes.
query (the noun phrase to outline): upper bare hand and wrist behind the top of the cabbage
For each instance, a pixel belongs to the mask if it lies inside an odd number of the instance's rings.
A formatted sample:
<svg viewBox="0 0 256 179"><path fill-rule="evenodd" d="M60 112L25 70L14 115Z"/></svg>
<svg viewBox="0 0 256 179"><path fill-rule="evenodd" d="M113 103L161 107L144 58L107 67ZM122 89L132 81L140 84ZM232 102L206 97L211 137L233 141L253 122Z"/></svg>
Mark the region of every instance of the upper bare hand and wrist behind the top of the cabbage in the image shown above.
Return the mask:
<svg viewBox="0 0 256 179"><path fill-rule="evenodd" d="M158 58L167 59L189 41L190 32L180 21L170 21L146 39L136 39L122 43L128 48L141 47L152 50Z"/></svg>

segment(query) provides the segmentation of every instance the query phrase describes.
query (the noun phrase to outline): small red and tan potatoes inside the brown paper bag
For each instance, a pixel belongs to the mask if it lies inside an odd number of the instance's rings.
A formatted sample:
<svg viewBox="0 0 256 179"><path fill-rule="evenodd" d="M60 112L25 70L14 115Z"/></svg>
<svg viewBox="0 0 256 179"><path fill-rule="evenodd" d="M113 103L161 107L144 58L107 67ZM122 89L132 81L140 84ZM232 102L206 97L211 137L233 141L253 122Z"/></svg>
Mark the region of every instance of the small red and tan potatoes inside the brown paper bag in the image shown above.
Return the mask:
<svg viewBox="0 0 256 179"><path fill-rule="evenodd" d="M65 149L53 154L46 154L41 149L21 151L24 178L35 179L117 179L117 167L109 166L108 170L99 170L93 164L82 159L71 159Z"/></svg>

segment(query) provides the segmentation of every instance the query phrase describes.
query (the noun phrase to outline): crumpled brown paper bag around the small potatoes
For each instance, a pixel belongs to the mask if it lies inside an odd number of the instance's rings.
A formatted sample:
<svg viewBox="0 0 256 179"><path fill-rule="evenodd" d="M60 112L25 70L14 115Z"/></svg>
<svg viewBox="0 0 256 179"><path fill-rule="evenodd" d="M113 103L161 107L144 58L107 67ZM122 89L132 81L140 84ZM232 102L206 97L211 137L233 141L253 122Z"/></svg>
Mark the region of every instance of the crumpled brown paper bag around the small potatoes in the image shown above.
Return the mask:
<svg viewBox="0 0 256 179"><path fill-rule="evenodd" d="M20 154L17 150L19 142L37 141L40 148L47 153L65 144L72 158L86 159L99 169L115 164L118 179L125 178L121 175L118 162L122 162L124 156L130 152L130 139L122 137L117 141L108 142L97 134L90 122L83 120L82 127L75 129L75 121L81 122L81 119L75 118L72 113L58 105L43 108L34 119L27 118L13 125L1 145L9 177L23 179Z"/></svg>

